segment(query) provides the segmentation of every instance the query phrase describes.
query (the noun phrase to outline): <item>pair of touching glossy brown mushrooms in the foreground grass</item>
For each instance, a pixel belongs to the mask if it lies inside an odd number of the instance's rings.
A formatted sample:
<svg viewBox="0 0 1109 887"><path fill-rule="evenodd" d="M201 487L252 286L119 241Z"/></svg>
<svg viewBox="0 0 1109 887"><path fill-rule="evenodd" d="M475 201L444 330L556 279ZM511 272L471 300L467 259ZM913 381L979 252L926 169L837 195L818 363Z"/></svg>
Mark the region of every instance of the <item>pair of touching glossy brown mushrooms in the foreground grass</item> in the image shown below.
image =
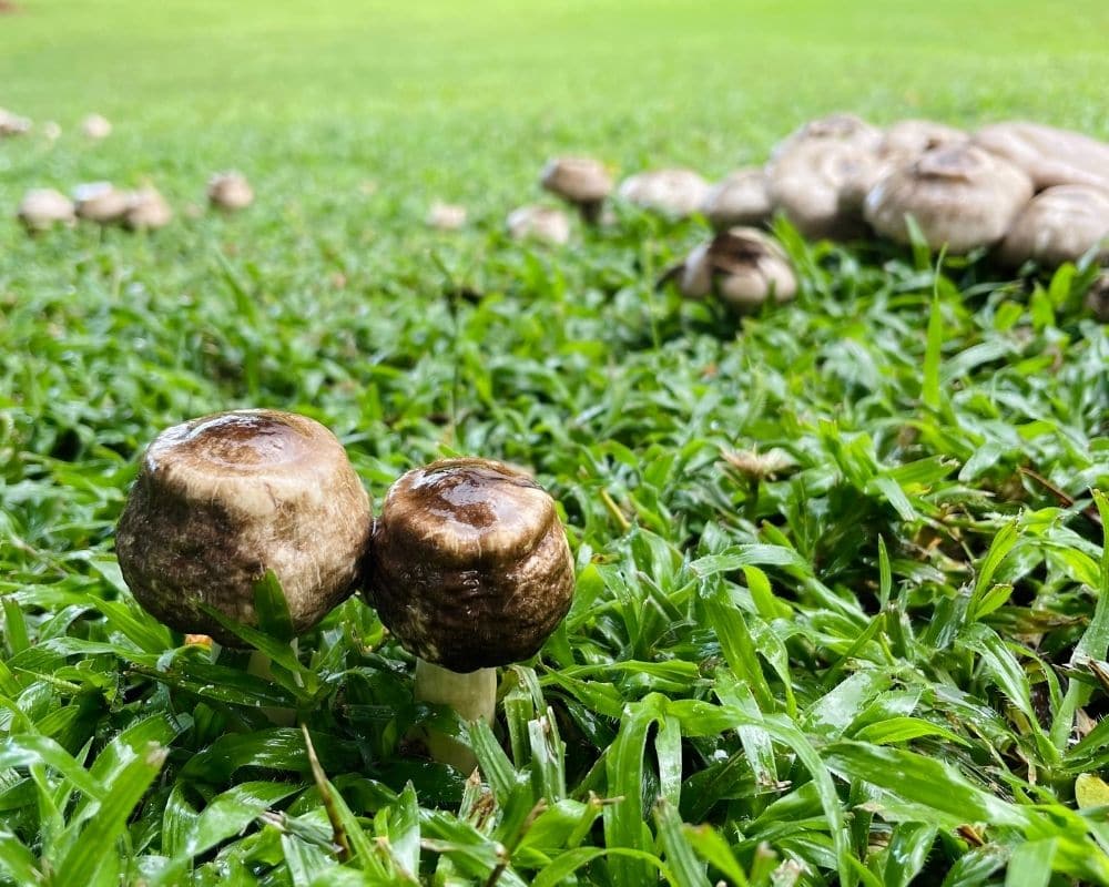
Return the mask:
<svg viewBox="0 0 1109 887"><path fill-rule="evenodd" d="M147 448L116 532L139 603L177 631L237 645L205 606L256 624L273 571L302 633L362 588L415 654L416 696L492 721L496 666L538 652L569 610L573 561L554 501L500 462L448 459L404 475L374 521L339 441L274 410L205 416ZM468 750L430 735L437 758Z"/></svg>

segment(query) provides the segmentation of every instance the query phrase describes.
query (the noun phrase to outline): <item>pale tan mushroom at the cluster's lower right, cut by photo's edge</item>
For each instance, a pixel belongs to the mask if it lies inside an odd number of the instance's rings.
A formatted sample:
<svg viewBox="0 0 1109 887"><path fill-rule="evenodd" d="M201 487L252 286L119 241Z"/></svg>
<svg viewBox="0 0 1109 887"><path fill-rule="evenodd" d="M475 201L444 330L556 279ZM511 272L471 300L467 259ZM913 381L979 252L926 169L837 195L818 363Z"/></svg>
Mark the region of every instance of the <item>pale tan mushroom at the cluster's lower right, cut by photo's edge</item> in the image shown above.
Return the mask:
<svg viewBox="0 0 1109 887"><path fill-rule="evenodd" d="M1025 205L998 254L1008 265L1034 258L1054 268L1077 262L1099 244L1099 258L1109 257L1109 191L1056 185Z"/></svg>

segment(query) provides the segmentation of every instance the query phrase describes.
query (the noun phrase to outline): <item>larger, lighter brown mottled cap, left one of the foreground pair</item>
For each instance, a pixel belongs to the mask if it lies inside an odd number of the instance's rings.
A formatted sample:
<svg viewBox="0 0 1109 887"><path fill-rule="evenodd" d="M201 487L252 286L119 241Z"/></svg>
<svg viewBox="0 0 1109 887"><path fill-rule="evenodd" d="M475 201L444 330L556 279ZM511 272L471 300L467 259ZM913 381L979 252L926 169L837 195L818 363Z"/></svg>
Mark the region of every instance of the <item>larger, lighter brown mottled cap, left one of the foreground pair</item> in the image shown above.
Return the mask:
<svg viewBox="0 0 1109 887"><path fill-rule="evenodd" d="M372 522L366 490L330 431L291 412L235 410L150 445L115 550L147 612L235 646L202 603L254 625L254 585L273 570L294 629L305 631L353 591Z"/></svg>

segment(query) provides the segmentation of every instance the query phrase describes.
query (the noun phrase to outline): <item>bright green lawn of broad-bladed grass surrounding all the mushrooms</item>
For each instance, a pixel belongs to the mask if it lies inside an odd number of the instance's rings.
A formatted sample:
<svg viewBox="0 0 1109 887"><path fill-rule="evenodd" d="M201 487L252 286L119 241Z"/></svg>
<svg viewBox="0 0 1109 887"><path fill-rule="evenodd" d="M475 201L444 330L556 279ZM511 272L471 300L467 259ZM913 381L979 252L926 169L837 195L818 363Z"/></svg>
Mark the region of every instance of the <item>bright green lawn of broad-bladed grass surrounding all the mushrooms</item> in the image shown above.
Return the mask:
<svg viewBox="0 0 1109 887"><path fill-rule="evenodd" d="M1089 273L783 226L800 298L739 322L653 287L696 221L623 212L553 251L499 231L564 149L715 175L844 108L1109 136L1103 3L889 6L0 16L0 103L116 124L0 143L0 883L1109 883ZM232 165L242 216L9 217L98 177L181 208ZM437 196L468 233L423 228ZM465 732L481 782L405 753L414 724L461 727L414 705L358 600L298 659L255 638L272 683L134 604L112 538L142 447L238 406L325 422L378 501L475 453L561 502L576 603ZM726 458L753 449L788 465Z"/></svg>

